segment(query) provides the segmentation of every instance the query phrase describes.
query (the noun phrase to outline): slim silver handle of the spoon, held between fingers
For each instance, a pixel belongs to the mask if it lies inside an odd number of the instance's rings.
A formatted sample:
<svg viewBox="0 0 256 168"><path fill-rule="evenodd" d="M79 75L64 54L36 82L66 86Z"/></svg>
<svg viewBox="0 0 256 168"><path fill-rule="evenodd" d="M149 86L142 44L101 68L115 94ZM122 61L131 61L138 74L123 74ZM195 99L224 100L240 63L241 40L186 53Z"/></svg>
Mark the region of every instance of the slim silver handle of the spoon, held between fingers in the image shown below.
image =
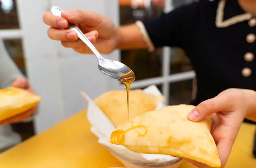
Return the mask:
<svg viewBox="0 0 256 168"><path fill-rule="evenodd" d="M51 9L51 12L53 15L61 17L61 13L64 12L64 10L59 7L53 6ZM94 55L98 58L98 61L101 59L104 59L99 53L99 51L94 47L94 45L89 41L89 39L83 34L83 32L75 24L69 23L68 28L77 33L78 37L91 49L91 51L93 51Z"/></svg>

